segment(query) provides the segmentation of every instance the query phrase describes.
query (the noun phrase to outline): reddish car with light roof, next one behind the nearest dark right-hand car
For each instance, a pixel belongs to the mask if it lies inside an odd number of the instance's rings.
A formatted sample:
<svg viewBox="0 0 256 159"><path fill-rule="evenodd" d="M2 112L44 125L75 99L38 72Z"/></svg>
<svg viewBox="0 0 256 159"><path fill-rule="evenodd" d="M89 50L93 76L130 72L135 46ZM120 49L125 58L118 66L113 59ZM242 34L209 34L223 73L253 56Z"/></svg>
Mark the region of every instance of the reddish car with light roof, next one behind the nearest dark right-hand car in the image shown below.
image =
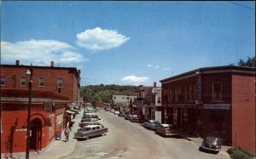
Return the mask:
<svg viewBox="0 0 256 159"><path fill-rule="evenodd" d="M155 132L161 136L172 136L177 135L177 131L172 124L160 124L158 128L155 129Z"/></svg>

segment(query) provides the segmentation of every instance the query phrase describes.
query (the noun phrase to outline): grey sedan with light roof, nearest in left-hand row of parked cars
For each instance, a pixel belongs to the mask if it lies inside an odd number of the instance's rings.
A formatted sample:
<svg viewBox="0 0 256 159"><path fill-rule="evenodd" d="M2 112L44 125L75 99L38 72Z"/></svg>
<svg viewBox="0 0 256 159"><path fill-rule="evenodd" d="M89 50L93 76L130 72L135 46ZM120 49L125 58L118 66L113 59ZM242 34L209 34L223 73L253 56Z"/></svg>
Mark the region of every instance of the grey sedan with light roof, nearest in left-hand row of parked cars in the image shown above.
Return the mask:
<svg viewBox="0 0 256 159"><path fill-rule="evenodd" d="M90 125L84 128L79 128L74 133L74 139L90 139L91 137L100 136L104 133L108 133L108 128L104 128L100 125Z"/></svg>

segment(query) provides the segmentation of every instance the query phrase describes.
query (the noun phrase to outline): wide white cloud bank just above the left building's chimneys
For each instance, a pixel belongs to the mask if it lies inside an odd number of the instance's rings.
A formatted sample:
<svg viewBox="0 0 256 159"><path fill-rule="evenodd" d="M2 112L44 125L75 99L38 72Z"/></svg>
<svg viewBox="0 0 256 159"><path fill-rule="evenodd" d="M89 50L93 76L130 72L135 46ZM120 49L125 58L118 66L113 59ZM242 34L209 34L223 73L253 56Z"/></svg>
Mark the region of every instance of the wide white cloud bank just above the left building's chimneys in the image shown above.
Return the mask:
<svg viewBox="0 0 256 159"><path fill-rule="evenodd" d="M3 62L20 60L24 65L49 65L50 61L70 65L85 60L73 46L55 40L1 42L1 54Z"/></svg>

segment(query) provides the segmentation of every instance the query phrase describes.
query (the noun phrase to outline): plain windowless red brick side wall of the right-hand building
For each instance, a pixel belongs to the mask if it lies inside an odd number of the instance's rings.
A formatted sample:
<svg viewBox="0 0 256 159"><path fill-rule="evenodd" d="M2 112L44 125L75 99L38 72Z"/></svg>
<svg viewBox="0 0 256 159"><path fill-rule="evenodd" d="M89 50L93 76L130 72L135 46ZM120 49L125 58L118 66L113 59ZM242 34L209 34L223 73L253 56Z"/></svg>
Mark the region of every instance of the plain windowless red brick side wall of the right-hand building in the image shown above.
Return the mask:
<svg viewBox="0 0 256 159"><path fill-rule="evenodd" d="M255 77L232 76L232 145L255 152Z"/></svg>

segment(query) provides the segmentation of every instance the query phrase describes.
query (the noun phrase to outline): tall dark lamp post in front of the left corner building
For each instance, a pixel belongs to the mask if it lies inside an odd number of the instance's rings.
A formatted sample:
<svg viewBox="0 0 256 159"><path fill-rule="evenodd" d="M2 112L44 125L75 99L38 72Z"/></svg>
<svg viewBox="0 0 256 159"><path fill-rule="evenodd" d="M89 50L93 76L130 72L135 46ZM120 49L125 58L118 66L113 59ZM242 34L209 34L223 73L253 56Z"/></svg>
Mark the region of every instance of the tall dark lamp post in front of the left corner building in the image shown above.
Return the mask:
<svg viewBox="0 0 256 159"><path fill-rule="evenodd" d="M33 69L29 68L26 71L26 76L29 77L28 81L28 105L27 105L27 126L26 126L26 159L29 159L29 149L30 149L30 118L31 118L31 101L32 101L32 76Z"/></svg>

